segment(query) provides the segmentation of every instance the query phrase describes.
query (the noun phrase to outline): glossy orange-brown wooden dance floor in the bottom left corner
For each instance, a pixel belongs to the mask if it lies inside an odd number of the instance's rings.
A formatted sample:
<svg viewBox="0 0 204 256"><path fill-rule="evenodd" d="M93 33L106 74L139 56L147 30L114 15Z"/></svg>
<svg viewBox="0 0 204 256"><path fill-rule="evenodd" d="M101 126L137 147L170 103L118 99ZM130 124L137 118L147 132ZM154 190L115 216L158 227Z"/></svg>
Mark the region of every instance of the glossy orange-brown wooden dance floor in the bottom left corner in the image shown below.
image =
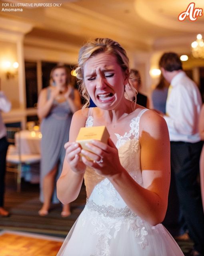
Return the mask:
<svg viewBox="0 0 204 256"><path fill-rule="evenodd" d="M0 233L0 256L56 256L62 239L19 232Z"/></svg>

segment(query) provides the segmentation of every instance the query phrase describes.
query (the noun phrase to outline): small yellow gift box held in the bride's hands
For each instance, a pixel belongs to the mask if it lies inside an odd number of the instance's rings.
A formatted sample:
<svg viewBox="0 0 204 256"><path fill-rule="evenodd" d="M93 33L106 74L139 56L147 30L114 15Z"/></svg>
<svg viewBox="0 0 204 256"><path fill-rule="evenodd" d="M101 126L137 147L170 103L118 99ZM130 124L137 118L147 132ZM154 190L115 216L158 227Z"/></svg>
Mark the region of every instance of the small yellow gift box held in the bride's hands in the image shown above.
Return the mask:
<svg viewBox="0 0 204 256"><path fill-rule="evenodd" d="M110 134L106 126L82 127L80 128L76 142L78 142L83 149L91 151L90 148L86 146L86 143L91 143L91 140L100 140L107 144L109 137Z"/></svg>

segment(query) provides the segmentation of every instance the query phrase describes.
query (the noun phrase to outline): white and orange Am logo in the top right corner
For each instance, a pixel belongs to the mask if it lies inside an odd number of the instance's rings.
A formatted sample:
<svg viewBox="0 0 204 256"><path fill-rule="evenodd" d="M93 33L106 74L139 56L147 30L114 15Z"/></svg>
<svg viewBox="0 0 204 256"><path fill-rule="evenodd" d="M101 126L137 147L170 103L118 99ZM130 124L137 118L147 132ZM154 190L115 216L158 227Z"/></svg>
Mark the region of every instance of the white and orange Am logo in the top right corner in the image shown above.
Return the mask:
<svg viewBox="0 0 204 256"><path fill-rule="evenodd" d="M198 17L201 17L202 15L203 15L203 9L196 8L196 4L192 2L188 4L188 7L184 12L181 12L178 15L178 20L184 21L188 17L190 21L196 21Z"/></svg>

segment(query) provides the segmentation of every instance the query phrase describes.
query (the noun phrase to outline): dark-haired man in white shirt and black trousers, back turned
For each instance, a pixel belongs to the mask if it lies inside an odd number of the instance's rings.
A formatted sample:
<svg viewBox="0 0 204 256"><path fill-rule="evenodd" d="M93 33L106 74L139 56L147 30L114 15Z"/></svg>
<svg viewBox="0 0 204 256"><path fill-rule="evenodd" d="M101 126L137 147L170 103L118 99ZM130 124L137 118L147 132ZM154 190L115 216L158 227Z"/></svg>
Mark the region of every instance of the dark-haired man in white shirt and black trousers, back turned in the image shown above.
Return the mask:
<svg viewBox="0 0 204 256"><path fill-rule="evenodd" d="M166 120L171 142L171 189L178 193L181 212L194 248L188 255L204 255L204 213L198 183L199 159L203 142L198 132L202 99L198 86L182 70L179 56L164 53L159 62L164 78L170 82ZM174 186L174 187L173 187ZM169 194L169 202L174 201ZM169 206L172 204L169 204ZM174 207L168 211L174 212ZM167 212L168 213L168 212ZM172 216L173 217L173 216Z"/></svg>

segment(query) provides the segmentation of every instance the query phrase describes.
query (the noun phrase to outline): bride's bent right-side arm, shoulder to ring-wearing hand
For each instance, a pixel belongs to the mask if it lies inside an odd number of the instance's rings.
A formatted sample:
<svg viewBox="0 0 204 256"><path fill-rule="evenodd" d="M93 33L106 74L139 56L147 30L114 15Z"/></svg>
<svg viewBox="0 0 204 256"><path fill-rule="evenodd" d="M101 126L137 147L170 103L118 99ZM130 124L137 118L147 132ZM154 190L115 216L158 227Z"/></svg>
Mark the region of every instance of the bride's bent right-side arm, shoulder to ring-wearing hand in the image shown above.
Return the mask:
<svg viewBox="0 0 204 256"><path fill-rule="evenodd" d="M144 188L121 166L118 151L99 141L90 144L96 154L82 150L83 154L103 163L82 158L83 162L106 176L122 196L128 207L152 225L164 219L170 184L170 142L164 119L150 110L140 120L141 168Z"/></svg>

